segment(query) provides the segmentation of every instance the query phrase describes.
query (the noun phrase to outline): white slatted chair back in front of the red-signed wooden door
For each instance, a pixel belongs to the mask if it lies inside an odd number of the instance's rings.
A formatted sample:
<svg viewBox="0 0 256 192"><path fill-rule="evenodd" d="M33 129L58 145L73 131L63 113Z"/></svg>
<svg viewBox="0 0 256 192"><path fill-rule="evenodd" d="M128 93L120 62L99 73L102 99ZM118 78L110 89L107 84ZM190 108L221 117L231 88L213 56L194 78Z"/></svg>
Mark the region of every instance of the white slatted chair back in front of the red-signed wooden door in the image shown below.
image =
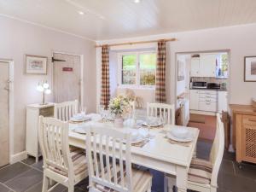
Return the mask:
<svg viewBox="0 0 256 192"><path fill-rule="evenodd" d="M78 100L70 102L61 102L55 104L55 118L62 121L68 121L79 111Z"/></svg>

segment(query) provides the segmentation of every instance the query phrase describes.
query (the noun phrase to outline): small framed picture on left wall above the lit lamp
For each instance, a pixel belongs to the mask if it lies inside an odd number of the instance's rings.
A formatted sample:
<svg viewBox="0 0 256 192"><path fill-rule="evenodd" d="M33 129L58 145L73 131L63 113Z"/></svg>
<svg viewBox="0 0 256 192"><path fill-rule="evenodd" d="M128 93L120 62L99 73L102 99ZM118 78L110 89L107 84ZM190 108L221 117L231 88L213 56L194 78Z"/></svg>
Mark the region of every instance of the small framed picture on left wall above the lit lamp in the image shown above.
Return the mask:
<svg viewBox="0 0 256 192"><path fill-rule="evenodd" d="M27 74L47 74L47 57L26 55Z"/></svg>

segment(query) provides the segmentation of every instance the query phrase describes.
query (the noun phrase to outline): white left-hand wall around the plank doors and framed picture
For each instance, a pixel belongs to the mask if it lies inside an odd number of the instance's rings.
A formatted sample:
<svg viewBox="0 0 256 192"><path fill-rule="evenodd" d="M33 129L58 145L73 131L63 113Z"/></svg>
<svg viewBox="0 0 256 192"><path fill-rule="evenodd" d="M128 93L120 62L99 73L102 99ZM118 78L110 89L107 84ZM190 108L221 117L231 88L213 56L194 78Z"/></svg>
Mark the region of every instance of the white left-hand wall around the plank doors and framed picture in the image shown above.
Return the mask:
<svg viewBox="0 0 256 192"><path fill-rule="evenodd" d="M96 49L95 43L62 32L56 32L26 22L0 16L0 58L15 61L15 136L14 152L25 150L26 105L41 102L42 96L35 89L38 81L46 79L51 85L52 51L84 55L84 105L89 112L96 110ZM48 74L25 74L24 55L48 56ZM52 96L46 101L51 102Z"/></svg>

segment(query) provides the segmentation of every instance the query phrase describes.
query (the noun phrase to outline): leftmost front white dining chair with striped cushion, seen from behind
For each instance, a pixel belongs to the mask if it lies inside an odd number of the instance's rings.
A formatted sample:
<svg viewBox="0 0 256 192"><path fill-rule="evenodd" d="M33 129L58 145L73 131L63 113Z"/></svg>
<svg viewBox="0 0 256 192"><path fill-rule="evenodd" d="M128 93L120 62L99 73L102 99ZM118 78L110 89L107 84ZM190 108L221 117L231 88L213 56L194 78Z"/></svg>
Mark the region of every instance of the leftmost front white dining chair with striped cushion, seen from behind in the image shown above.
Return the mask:
<svg viewBox="0 0 256 192"><path fill-rule="evenodd" d="M40 116L38 133L44 162L42 192L51 191L58 183L73 192L74 185L88 177L84 149L69 147L68 123L59 119ZM56 182L50 189L49 181Z"/></svg>

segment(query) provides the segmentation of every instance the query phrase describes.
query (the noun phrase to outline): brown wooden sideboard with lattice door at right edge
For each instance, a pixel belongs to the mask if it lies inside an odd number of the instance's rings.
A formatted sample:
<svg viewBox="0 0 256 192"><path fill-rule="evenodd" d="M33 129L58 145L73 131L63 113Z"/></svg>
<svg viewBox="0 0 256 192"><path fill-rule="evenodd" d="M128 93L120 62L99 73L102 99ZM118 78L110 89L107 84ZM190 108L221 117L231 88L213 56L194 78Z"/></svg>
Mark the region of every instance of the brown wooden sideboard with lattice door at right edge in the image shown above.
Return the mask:
<svg viewBox="0 0 256 192"><path fill-rule="evenodd" d="M256 163L256 112L250 105L230 105L236 161Z"/></svg>

